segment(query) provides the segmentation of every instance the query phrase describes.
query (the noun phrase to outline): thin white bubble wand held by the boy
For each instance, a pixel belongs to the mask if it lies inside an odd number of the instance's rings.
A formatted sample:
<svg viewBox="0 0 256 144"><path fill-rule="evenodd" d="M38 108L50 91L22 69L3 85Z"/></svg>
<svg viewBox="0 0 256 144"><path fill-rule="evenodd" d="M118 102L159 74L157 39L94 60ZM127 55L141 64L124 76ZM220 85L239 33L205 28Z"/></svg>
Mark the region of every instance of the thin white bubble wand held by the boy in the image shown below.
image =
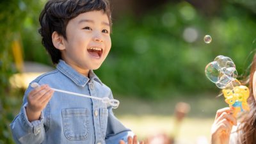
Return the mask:
<svg viewBox="0 0 256 144"><path fill-rule="evenodd" d="M36 88L37 86L39 86L38 83L31 83L32 88ZM56 89L56 88L51 88L51 89L56 91L56 92L68 93L70 95L76 95L76 96L79 96L79 97L87 97L87 98L91 98L91 99L101 100L102 103L108 104L109 106L112 106L113 109L118 108L119 103L120 103L119 100L109 99L108 97L100 98L100 97L93 97L93 96L90 96L90 95L84 95L84 94L81 94L81 93L74 93L74 92L68 92L68 91L65 91L65 90L59 90L59 89Z"/></svg>

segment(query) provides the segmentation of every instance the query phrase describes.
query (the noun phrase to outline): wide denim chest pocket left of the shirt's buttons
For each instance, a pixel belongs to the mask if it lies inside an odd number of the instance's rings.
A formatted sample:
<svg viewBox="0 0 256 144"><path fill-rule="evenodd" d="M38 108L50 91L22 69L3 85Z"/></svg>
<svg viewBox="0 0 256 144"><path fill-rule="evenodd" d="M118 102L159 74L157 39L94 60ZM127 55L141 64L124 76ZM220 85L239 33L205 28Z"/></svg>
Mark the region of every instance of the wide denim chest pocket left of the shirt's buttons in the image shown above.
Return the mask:
<svg viewBox="0 0 256 144"><path fill-rule="evenodd" d="M71 141L86 140L90 135L88 109L62 109L63 130Z"/></svg>

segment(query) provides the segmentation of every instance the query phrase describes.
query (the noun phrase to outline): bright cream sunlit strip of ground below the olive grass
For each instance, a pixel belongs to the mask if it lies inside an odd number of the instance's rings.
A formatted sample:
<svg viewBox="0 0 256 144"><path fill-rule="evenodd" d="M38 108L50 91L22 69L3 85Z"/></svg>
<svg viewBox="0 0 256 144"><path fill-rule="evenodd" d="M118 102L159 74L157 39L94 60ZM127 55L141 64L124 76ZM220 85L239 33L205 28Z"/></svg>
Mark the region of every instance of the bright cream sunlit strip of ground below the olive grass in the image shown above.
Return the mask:
<svg viewBox="0 0 256 144"><path fill-rule="evenodd" d="M211 136L211 125L214 121L214 118L185 118L175 132L175 118L173 116L125 115L118 116L118 118L126 127L137 134L141 140L164 133L168 136L175 134L177 143L186 144L198 143L202 139L208 143ZM204 144L207 144L206 142Z"/></svg>

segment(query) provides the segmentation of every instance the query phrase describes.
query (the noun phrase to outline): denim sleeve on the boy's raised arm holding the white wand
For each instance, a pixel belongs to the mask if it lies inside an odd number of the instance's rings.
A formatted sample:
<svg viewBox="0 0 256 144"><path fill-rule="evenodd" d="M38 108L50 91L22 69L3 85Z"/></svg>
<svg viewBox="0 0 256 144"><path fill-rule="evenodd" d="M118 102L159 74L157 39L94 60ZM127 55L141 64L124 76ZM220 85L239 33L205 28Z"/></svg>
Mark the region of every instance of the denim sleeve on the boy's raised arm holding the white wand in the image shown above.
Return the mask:
<svg viewBox="0 0 256 144"><path fill-rule="evenodd" d="M29 88L25 92L20 113L15 117L13 122L10 124L10 128L15 143L33 144L42 143L44 141L45 130L43 112L40 115L40 120L35 120L33 122L28 121L28 116L26 114L26 106L28 104L26 97L31 90L32 88L29 86Z"/></svg>

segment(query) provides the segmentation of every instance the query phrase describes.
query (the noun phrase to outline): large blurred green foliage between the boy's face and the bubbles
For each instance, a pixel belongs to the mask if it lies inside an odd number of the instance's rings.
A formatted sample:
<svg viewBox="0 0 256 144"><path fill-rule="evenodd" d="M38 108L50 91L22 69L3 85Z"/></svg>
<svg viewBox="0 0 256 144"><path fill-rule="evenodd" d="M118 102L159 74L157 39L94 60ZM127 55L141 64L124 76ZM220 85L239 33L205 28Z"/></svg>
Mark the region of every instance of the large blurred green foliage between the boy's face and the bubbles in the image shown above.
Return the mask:
<svg viewBox="0 0 256 144"><path fill-rule="evenodd" d="M189 3L172 3L143 17L127 15L113 23L111 52L97 71L116 93L144 98L175 97L214 90L205 66L218 55L236 63L239 74L255 47L255 14L224 4L219 15L205 16ZM204 36L211 35L211 44ZM250 57L250 56L249 56Z"/></svg>

